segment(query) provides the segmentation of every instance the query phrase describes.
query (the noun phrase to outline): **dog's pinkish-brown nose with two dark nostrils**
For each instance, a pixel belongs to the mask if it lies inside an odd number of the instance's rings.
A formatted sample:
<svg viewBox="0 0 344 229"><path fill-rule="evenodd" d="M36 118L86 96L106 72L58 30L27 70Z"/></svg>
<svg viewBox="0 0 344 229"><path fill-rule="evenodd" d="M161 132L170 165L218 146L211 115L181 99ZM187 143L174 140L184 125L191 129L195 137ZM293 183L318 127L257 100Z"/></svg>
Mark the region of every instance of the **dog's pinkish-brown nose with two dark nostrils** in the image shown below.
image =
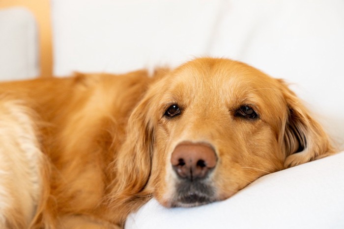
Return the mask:
<svg viewBox="0 0 344 229"><path fill-rule="evenodd" d="M207 144L181 143L172 153L171 164L181 178L204 178L216 166L217 157Z"/></svg>

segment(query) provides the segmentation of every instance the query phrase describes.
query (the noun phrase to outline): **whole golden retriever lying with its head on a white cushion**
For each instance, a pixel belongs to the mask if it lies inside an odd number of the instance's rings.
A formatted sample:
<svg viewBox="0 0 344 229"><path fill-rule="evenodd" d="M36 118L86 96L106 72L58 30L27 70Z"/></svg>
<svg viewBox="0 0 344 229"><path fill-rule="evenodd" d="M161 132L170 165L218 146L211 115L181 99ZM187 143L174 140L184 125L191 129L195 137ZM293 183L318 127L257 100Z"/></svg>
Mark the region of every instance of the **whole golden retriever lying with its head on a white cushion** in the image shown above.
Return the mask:
<svg viewBox="0 0 344 229"><path fill-rule="evenodd" d="M286 83L244 63L0 84L0 228L120 228L334 153Z"/></svg>

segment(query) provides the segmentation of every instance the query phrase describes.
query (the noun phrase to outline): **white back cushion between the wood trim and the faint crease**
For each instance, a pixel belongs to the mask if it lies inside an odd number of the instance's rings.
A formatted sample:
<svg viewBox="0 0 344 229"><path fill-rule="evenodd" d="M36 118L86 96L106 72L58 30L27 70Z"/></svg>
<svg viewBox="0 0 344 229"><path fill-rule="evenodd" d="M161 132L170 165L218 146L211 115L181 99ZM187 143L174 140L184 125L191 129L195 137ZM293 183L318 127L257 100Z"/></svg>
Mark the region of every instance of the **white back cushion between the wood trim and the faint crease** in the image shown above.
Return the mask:
<svg viewBox="0 0 344 229"><path fill-rule="evenodd" d="M176 66L202 55L222 0L52 0L55 75Z"/></svg>

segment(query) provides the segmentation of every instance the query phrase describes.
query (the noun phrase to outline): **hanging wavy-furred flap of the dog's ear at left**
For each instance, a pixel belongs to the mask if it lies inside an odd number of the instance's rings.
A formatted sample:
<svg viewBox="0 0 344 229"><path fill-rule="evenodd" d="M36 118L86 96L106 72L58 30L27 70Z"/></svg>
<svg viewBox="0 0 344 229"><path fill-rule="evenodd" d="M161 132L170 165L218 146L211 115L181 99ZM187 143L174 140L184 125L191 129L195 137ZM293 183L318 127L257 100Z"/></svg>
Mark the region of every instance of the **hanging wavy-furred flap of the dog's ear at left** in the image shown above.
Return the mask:
<svg viewBox="0 0 344 229"><path fill-rule="evenodd" d="M150 102L150 96L146 95L129 117L126 139L115 165L115 185L119 192L135 195L148 181L154 135Z"/></svg>

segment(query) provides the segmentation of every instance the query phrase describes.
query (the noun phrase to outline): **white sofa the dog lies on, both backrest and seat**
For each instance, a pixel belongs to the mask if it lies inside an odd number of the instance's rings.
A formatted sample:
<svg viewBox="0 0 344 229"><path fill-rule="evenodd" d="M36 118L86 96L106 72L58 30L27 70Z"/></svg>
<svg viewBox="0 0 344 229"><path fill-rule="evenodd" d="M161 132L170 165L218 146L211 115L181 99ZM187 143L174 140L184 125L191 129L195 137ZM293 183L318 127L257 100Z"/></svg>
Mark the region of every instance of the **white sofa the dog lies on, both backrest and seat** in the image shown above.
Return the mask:
<svg viewBox="0 0 344 229"><path fill-rule="evenodd" d="M204 55L229 57L292 83L339 151L344 147L343 0L51 3L57 76L174 67ZM343 177L344 153L339 153L259 178L223 202L166 209L151 200L129 216L125 227L340 229Z"/></svg>

